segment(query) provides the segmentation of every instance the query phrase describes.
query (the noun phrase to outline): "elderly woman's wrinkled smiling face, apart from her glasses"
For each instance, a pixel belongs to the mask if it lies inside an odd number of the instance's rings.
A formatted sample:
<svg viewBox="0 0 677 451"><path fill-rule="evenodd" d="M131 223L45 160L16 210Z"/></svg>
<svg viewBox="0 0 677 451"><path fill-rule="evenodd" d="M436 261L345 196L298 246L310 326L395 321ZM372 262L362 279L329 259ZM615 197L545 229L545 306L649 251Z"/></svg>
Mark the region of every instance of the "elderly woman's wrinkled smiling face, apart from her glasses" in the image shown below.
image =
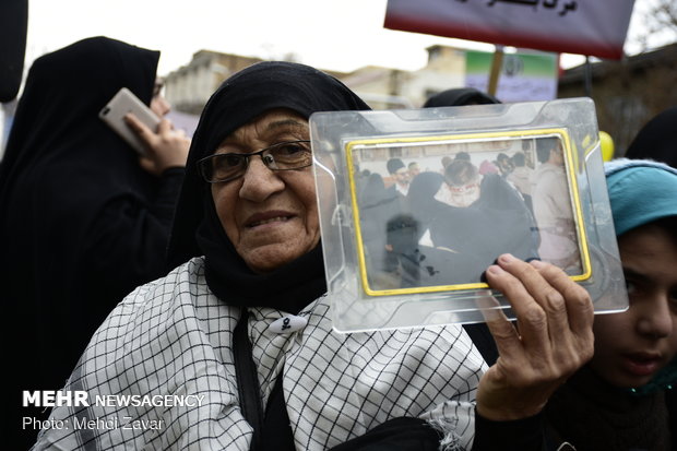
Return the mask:
<svg viewBox="0 0 677 451"><path fill-rule="evenodd" d="M273 109L235 130L214 153L252 153L308 139L306 119L292 110ZM212 197L230 242L257 273L289 263L320 241L311 167L273 171L254 156L242 177L213 183Z"/></svg>

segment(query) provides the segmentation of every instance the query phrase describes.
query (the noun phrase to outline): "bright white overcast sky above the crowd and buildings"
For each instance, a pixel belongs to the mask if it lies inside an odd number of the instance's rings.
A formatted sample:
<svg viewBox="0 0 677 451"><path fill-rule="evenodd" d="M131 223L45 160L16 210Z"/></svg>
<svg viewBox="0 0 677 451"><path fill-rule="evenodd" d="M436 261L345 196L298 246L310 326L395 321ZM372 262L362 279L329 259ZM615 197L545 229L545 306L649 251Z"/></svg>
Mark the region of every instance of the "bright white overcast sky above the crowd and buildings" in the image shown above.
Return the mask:
<svg viewBox="0 0 677 451"><path fill-rule="evenodd" d="M637 0L636 11L646 1ZM384 29L385 4L387 0L28 0L25 66L45 52L98 35L161 50L161 75L188 64L202 49L264 59L294 54L297 61L346 72L367 64L416 70L426 63L425 48L435 44L494 49ZM580 57L563 59L565 66L580 62Z"/></svg>

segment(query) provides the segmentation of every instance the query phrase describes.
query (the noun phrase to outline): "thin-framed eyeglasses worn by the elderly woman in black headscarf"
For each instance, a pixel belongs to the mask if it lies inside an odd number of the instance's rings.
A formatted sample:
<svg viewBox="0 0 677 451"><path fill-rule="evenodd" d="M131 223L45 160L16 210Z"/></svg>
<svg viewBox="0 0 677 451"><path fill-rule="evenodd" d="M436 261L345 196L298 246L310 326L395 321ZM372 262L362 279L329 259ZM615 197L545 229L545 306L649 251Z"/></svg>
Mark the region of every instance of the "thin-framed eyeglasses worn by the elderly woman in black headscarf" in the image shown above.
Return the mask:
<svg viewBox="0 0 677 451"><path fill-rule="evenodd" d="M285 141L250 154L214 154L198 161L198 171L207 183L218 183L242 177L249 158L260 155L271 170L302 169L312 165L310 141Z"/></svg>

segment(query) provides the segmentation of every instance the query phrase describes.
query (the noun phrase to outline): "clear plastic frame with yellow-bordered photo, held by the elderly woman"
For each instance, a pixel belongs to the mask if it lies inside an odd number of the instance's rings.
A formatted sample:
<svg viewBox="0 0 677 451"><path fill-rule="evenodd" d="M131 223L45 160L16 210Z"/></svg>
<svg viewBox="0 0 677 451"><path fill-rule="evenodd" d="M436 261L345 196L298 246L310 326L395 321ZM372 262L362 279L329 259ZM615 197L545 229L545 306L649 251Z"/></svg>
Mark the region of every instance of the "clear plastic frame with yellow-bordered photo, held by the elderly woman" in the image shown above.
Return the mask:
<svg viewBox="0 0 677 451"><path fill-rule="evenodd" d="M558 265L595 312L628 306L587 98L310 117L337 331L513 318L484 271Z"/></svg>

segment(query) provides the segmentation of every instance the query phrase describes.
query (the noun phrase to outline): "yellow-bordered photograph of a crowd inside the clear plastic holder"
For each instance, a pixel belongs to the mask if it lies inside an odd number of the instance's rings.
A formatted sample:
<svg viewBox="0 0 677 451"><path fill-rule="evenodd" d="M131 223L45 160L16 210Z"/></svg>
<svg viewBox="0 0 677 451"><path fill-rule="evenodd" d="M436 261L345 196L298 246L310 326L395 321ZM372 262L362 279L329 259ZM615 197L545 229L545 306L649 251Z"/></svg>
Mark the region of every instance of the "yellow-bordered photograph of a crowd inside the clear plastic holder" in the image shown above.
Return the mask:
<svg viewBox="0 0 677 451"><path fill-rule="evenodd" d="M369 296L487 287L501 253L591 276L563 129L346 144L361 285Z"/></svg>

